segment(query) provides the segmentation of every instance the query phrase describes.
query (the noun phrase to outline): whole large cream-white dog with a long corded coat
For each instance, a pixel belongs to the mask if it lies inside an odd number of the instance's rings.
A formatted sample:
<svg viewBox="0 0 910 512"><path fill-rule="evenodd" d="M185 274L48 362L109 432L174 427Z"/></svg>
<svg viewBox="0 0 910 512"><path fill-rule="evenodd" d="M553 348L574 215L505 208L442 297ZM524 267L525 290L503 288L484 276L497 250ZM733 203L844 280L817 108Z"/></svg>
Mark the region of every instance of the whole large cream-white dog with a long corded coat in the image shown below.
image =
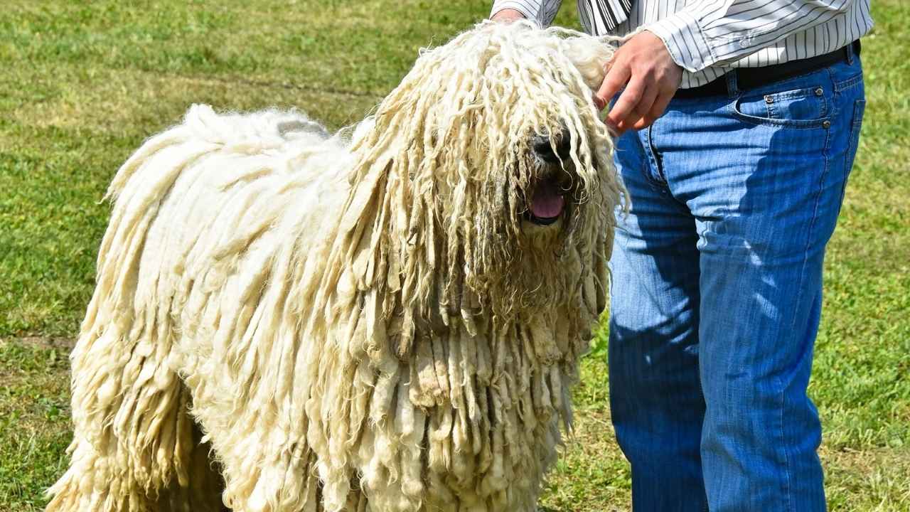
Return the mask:
<svg viewBox="0 0 910 512"><path fill-rule="evenodd" d="M604 309L612 47L482 23L375 114L196 106L119 169L51 511L535 509Z"/></svg>

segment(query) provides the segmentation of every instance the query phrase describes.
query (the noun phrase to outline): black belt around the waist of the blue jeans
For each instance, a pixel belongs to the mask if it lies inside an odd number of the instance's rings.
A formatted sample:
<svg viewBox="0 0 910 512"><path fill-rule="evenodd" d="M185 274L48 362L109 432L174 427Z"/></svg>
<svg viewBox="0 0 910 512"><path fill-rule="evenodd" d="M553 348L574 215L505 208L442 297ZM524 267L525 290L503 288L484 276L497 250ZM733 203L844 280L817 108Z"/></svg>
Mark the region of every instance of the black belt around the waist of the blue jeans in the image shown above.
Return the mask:
<svg viewBox="0 0 910 512"><path fill-rule="evenodd" d="M736 88L748 90L754 87L773 84L774 82L779 82L787 78L805 75L806 73L811 73L812 71L822 69L823 67L829 67L832 64L836 64L843 60L848 60L851 51L853 51L856 56L859 56L859 39L855 40L853 45L844 46L843 48L824 55L801 58L799 60L784 62L783 64L773 64L764 67L737 67L736 69L733 69L733 71L730 71L730 73L736 74ZM726 96L726 94L727 80L726 75L724 75L723 77L713 79L703 86L679 89L673 97L712 97Z"/></svg>

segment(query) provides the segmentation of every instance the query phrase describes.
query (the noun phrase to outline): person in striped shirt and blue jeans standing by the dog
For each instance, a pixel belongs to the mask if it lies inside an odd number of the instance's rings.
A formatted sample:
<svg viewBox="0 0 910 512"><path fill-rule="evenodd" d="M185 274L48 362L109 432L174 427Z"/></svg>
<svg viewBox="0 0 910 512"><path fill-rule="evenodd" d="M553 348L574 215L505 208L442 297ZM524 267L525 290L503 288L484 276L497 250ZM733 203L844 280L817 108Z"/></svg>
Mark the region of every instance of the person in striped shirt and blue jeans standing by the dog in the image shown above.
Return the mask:
<svg viewBox="0 0 910 512"><path fill-rule="evenodd" d="M551 24L559 0L495 0ZM579 0L631 35L595 94L631 210L610 401L636 512L825 510L806 394L864 113L869 0ZM634 35L632 35L634 34Z"/></svg>

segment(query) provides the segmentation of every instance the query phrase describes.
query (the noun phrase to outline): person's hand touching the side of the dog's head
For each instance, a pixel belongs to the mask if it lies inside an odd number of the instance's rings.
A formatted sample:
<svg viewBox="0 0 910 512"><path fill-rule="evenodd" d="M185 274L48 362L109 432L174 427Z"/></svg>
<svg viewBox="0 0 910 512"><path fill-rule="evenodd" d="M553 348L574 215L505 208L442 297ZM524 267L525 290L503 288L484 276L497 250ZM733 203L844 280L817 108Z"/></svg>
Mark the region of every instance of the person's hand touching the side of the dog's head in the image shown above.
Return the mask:
<svg viewBox="0 0 910 512"><path fill-rule="evenodd" d="M682 67L673 62L663 41L645 31L616 50L594 102L603 109L625 87L607 114L607 126L617 135L647 128L662 116L681 80Z"/></svg>

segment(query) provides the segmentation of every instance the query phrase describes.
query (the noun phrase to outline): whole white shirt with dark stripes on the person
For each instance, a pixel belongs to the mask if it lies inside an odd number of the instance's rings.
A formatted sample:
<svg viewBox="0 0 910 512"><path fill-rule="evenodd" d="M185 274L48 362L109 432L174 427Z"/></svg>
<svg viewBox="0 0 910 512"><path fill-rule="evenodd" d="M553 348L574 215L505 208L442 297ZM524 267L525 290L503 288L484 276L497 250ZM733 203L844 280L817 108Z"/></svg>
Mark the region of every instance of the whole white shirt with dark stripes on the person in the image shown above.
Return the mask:
<svg viewBox="0 0 910 512"><path fill-rule="evenodd" d="M594 2L578 0L581 26L606 34L592 13ZM549 26L561 0L495 0L491 14L515 9ZM808 58L847 46L872 28L869 0L632 0L629 19L616 36L644 28L662 39L685 71L680 87L698 87L733 67L763 67Z"/></svg>

